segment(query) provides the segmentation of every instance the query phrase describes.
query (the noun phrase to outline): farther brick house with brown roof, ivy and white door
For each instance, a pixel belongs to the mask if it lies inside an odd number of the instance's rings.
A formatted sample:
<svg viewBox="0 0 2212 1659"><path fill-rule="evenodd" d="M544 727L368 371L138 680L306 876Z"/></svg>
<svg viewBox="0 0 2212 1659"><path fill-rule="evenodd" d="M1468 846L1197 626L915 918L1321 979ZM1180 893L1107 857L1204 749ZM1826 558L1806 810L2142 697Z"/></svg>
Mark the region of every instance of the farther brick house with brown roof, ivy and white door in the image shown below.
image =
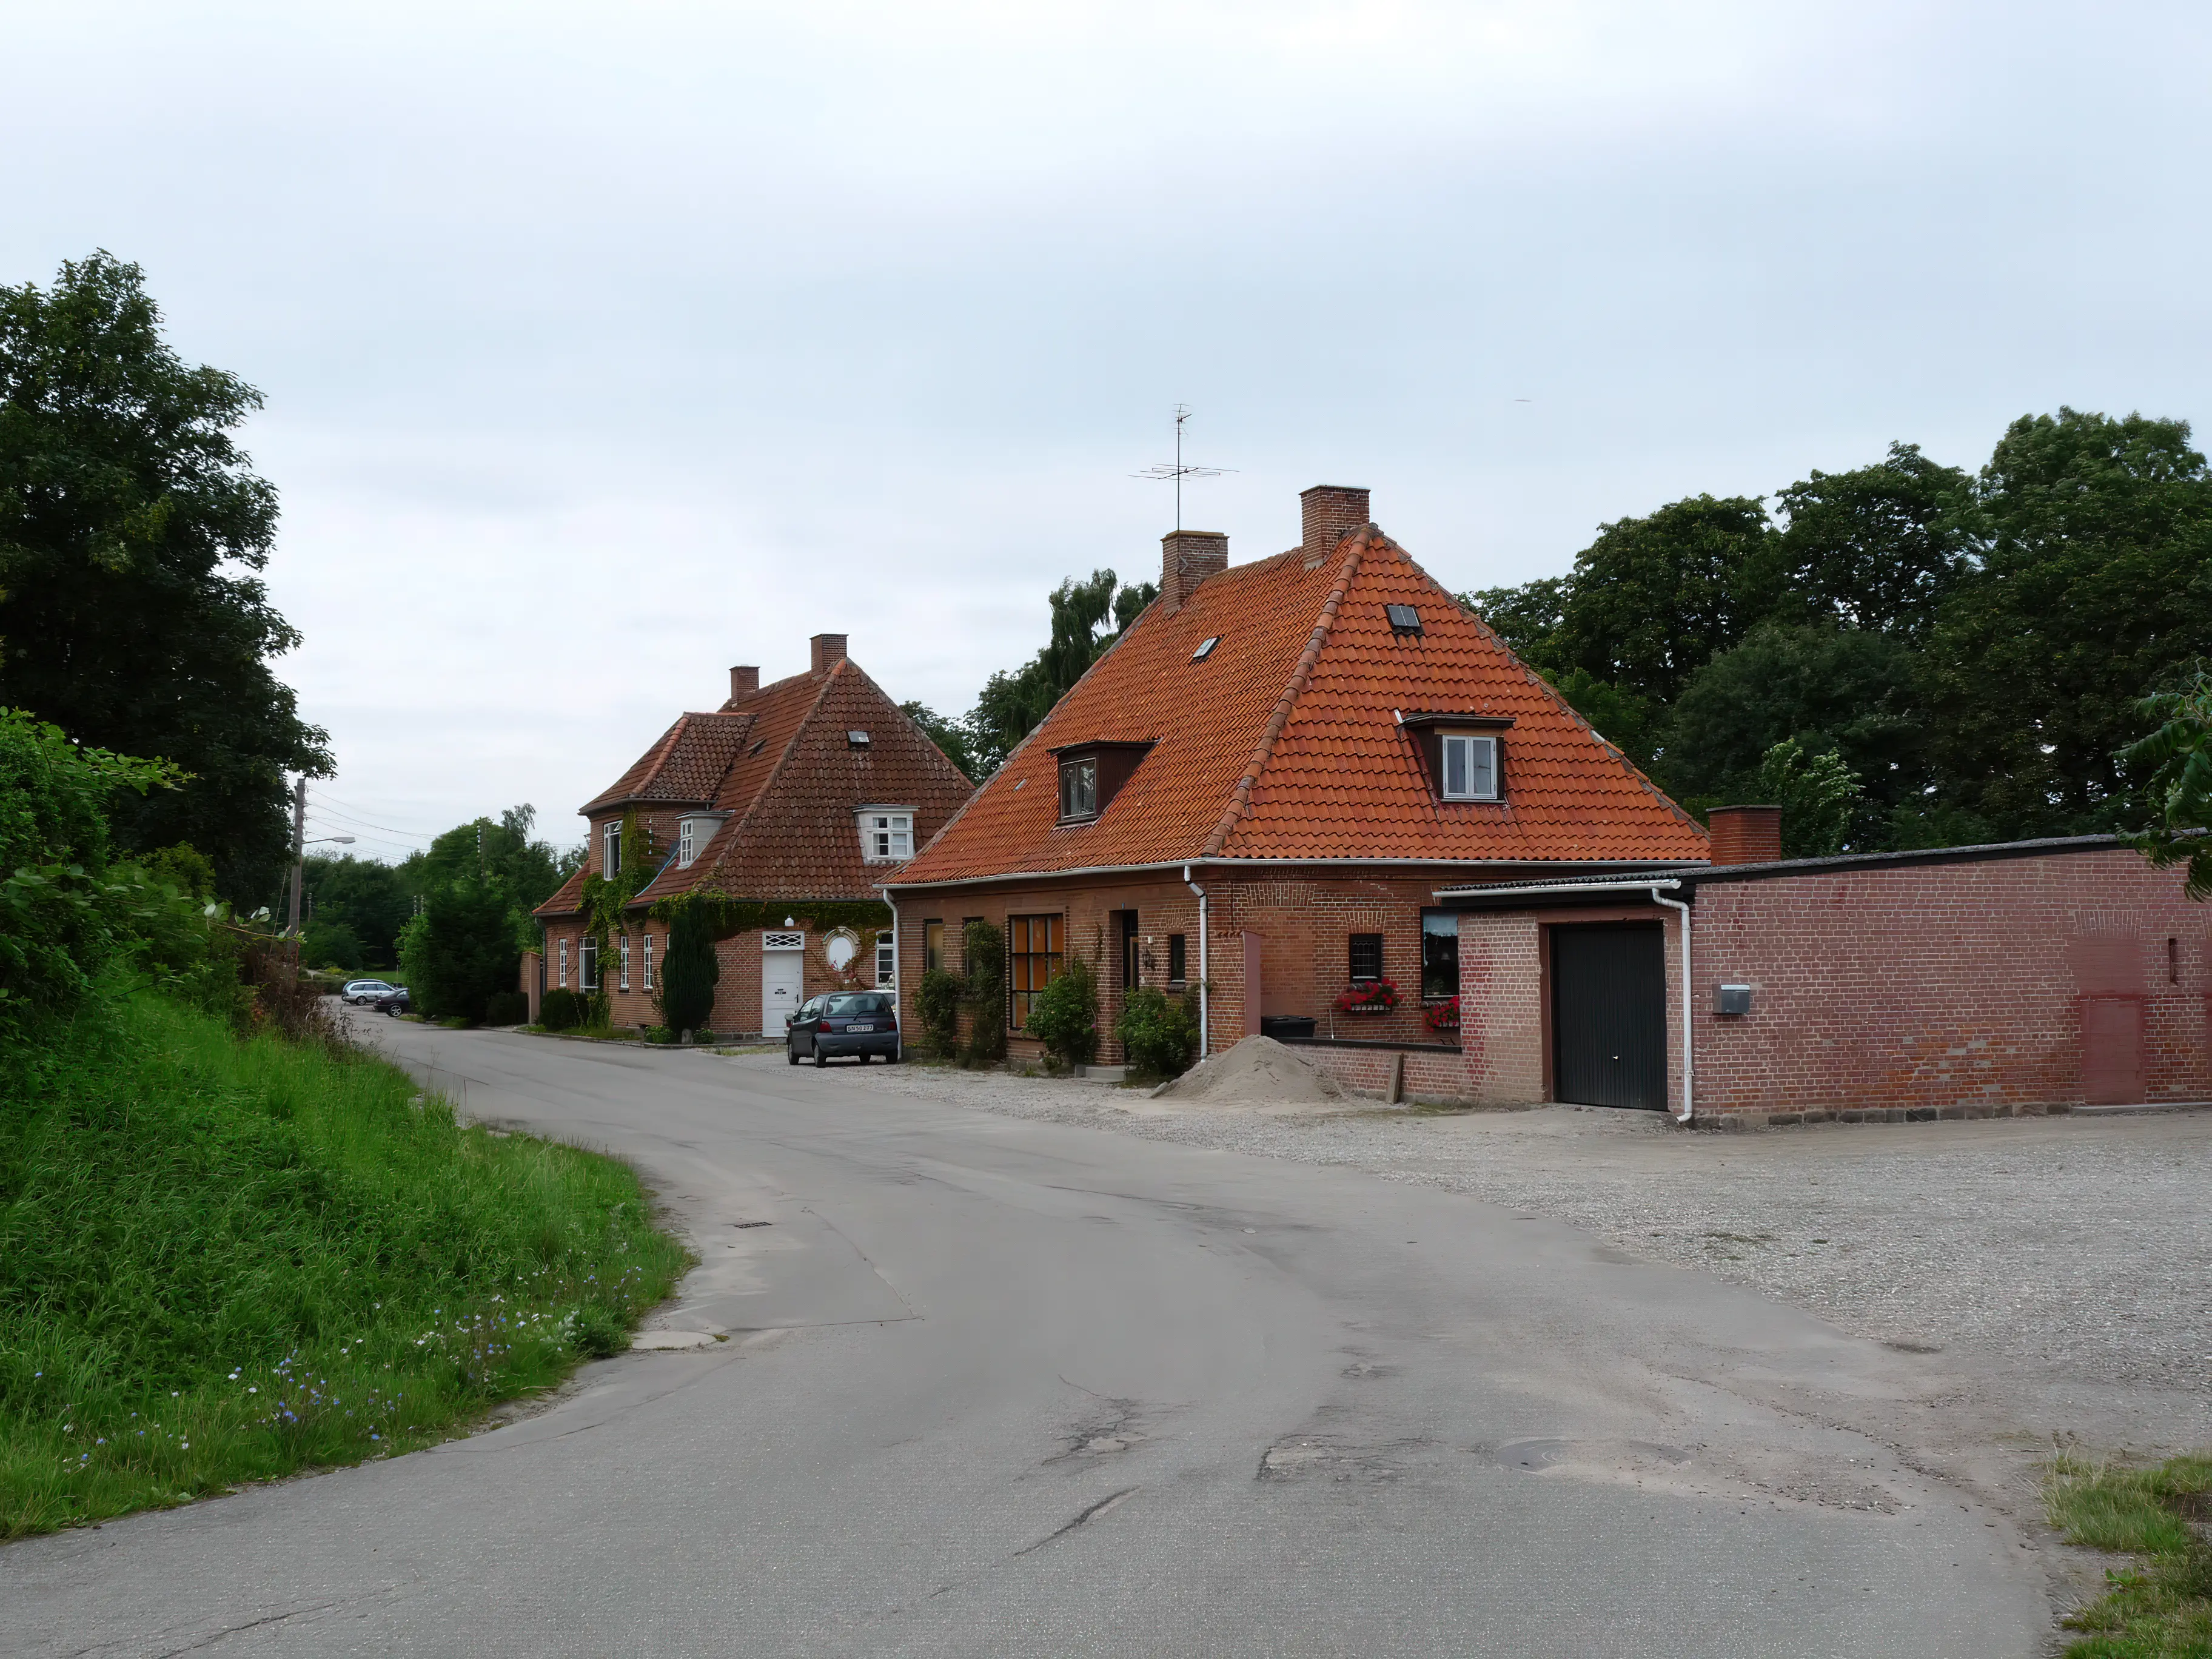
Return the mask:
<svg viewBox="0 0 2212 1659"><path fill-rule="evenodd" d="M717 945L721 980L708 1026L779 1037L783 1015L841 973L891 984L894 956L887 938L878 947L878 927L823 929L816 911L880 905L883 878L969 794L960 770L845 655L845 635L814 635L807 672L772 686L761 686L759 668L732 668L721 708L679 714L580 807L591 825L586 863L538 907L546 931L540 984L604 984L613 1024L657 1024L655 962L666 960L668 936L648 911L679 894L717 894L783 916ZM624 845L626 823L644 847ZM659 869L608 942L608 960L597 960L584 880L641 856Z"/></svg>

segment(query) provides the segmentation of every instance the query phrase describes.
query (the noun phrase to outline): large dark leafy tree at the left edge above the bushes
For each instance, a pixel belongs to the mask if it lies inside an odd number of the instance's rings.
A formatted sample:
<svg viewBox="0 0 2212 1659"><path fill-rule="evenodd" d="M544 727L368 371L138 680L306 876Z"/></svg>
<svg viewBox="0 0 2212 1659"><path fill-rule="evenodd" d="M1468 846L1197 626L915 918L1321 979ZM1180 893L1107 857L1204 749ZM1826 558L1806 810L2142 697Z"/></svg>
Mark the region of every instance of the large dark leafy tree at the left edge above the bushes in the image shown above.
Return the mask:
<svg viewBox="0 0 2212 1659"><path fill-rule="evenodd" d="M232 431L259 407L168 347L137 265L97 252L49 290L0 285L0 695L184 768L113 803L117 847L188 841L237 900L281 876L285 772L332 770L270 670L299 635L252 575L276 491Z"/></svg>

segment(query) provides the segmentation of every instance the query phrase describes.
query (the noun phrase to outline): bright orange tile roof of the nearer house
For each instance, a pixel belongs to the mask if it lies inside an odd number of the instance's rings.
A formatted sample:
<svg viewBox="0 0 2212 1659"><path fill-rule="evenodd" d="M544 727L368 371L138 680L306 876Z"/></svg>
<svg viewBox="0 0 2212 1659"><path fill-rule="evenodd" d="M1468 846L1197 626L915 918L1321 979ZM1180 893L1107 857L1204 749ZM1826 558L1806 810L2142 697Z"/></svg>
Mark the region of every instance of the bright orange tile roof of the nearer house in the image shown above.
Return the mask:
<svg viewBox="0 0 2212 1659"><path fill-rule="evenodd" d="M1391 633L1387 604L1420 611ZM1197 646L1221 644L1192 661ZM1502 803L1438 801L1398 714L1511 719ZM1051 750L1155 748L1060 825ZM1387 535L1152 604L898 885L1199 858L1701 860L1705 834Z"/></svg>

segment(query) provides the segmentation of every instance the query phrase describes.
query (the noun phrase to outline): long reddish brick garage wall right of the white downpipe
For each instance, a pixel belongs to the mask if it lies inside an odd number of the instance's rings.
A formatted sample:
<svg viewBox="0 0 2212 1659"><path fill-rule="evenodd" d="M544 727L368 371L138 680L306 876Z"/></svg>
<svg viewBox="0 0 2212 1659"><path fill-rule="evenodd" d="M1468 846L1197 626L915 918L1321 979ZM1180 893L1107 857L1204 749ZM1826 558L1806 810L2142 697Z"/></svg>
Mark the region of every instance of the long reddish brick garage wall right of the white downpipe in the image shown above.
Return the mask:
<svg viewBox="0 0 2212 1659"><path fill-rule="evenodd" d="M2081 1104L2084 1006L2132 1002L2141 1097L2212 1099L2212 911L2126 849L1697 894L1697 1110L1980 1117ZM1750 984L1752 1011L1712 1013Z"/></svg>

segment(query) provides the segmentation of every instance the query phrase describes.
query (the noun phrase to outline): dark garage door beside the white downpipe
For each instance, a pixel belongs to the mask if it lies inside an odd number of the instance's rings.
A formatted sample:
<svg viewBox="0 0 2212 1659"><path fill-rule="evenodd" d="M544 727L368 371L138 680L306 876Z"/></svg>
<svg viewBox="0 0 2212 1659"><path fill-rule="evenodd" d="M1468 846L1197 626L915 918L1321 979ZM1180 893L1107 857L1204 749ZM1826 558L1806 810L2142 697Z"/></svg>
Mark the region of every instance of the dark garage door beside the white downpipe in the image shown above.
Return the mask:
<svg viewBox="0 0 2212 1659"><path fill-rule="evenodd" d="M1551 929L1553 1097L1666 1108L1666 933L1659 922Z"/></svg>

